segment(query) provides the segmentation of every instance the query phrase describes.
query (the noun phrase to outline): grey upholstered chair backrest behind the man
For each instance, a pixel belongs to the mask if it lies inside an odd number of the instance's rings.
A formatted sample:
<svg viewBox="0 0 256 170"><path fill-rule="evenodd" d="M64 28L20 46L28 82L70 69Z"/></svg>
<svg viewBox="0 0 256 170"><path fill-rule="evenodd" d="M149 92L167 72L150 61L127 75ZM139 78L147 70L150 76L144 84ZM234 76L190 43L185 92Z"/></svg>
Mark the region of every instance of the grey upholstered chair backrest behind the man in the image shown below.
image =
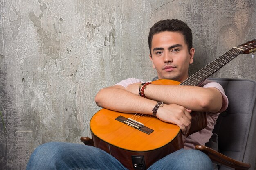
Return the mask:
<svg viewBox="0 0 256 170"><path fill-rule="evenodd" d="M229 99L227 110L220 113L213 133L218 135L218 152L250 163L256 156L256 83L244 79L209 78L222 85ZM226 169L220 167L220 170Z"/></svg>

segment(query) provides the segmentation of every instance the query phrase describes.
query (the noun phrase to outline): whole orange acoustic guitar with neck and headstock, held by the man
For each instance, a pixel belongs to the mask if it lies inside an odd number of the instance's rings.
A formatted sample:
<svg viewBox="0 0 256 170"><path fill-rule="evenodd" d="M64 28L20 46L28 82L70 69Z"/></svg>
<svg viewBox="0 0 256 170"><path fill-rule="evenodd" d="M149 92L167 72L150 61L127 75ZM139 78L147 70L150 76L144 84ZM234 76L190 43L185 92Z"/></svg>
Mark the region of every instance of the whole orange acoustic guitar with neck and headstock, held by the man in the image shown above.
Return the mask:
<svg viewBox="0 0 256 170"><path fill-rule="evenodd" d="M239 54L256 51L256 40L233 47L218 59L182 83L167 79L153 81L161 85L196 86ZM207 113L191 113L189 136L207 126ZM120 113L101 109L90 120L94 146L105 150L128 169L146 169L159 159L184 147L180 128L151 115Z"/></svg>

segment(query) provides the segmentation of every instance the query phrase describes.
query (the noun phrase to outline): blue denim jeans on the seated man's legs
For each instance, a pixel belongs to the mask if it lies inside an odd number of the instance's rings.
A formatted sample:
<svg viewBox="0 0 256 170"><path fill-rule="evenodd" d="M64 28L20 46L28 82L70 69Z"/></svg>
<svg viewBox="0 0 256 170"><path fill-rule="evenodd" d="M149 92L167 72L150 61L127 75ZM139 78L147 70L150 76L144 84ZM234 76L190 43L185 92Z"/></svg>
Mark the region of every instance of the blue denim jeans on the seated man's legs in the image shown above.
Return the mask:
<svg viewBox="0 0 256 170"><path fill-rule="evenodd" d="M49 142L34 150L27 170L127 170L105 151L84 144ZM213 170L211 159L198 150L180 149L148 170Z"/></svg>

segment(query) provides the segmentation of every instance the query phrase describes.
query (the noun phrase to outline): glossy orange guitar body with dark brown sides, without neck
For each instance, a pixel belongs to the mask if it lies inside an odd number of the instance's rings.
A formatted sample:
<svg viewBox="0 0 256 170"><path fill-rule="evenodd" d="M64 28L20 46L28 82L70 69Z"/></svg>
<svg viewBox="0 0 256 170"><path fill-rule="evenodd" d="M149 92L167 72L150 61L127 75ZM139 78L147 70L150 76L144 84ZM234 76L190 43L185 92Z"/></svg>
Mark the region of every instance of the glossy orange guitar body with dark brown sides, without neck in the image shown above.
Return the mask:
<svg viewBox="0 0 256 170"><path fill-rule="evenodd" d="M152 84L180 83L161 79L153 81ZM153 130L147 134L116 120L119 116L132 118L134 115L135 113L120 113L108 109L98 111L90 121L94 146L114 156L128 169L146 169L162 157L184 147L184 137L175 124L163 122L151 115L142 115L136 121ZM206 113L191 115L191 129L188 135L207 126ZM141 160L141 163L138 160Z"/></svg>

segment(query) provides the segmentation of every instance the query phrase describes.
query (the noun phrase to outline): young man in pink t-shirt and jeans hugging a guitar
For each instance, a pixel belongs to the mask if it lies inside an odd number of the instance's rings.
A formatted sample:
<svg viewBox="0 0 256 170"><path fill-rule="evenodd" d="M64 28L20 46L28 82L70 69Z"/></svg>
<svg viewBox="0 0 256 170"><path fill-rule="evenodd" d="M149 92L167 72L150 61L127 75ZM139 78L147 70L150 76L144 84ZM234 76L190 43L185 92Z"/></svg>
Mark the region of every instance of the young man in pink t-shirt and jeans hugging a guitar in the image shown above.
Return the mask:
<svg viewBox="0 0 256 170"><path fill-rule="evenodd" d="M191 29L180 20L157 22L148 36L150 60L158 78L184 81L193 63ZM141 84L143 84L141 86ZM140 85L140 86L139 86ZM207 111L205 129L186 138L185 148L155 162L149 169L213 169L204 153L194 150L197 144L209 141L218 113L227 108L227 97L215 82L204 81L201 87L153 85L129 78L101 89L95 97L100 107L120 112L153 114L162 121L177 124L185 135L191 124L191 111ZM143 90L142 90L143 89ZM162 107L153 113L157 102ZM27 169L126 169L117 159L95 147L51 142L36 148Z"/></svg>

